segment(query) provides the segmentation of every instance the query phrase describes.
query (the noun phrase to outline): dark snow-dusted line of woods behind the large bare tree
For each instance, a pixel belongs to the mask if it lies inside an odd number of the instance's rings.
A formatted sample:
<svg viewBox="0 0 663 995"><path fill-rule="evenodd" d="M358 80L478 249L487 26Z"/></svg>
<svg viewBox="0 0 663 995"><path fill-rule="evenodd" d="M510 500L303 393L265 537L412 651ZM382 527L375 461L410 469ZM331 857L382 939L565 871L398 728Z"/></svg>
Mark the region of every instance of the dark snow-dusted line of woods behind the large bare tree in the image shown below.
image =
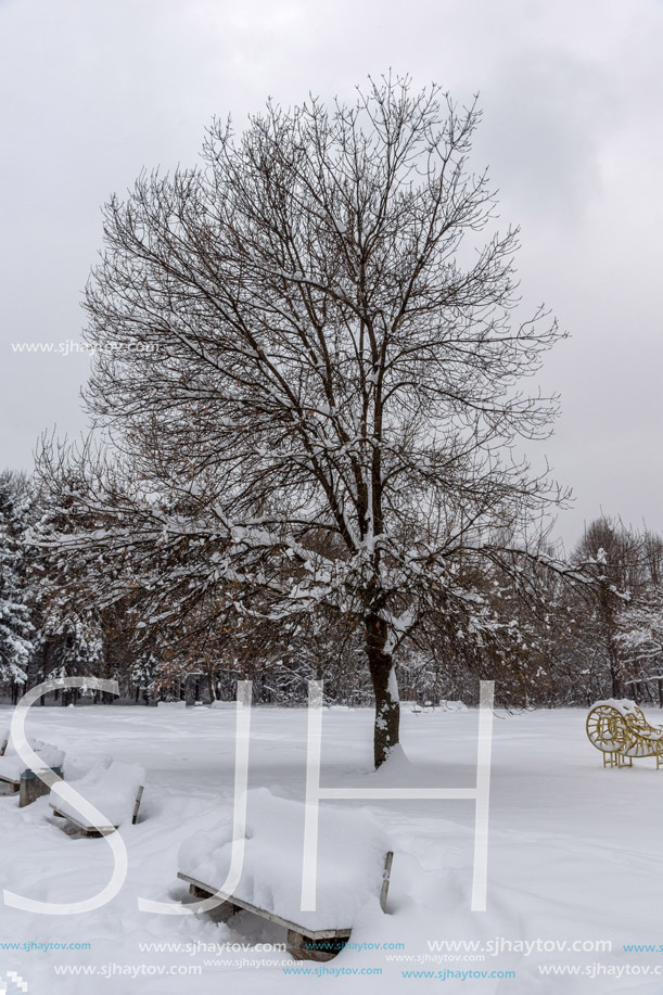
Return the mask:
<svg viewBox="0 0 663 995"><path fill-rule="evenodd" d="M361 633L326 605L258 620L255 590L235 583L200 597L177 622L164 612L162 627L139 587L106 609L77 611L89 577L64 574L56 559L26 541L54 522L62 528L63 515L66 509L37 477L0 474L4 701L49 677L87 674L116 678L125 700L144 704L231 700L243 678L253 679L259 702L303 703L311 678L324 680L329 702L372 702ZM663 537L601 516L568 559L582 564L591 583L570 583L531 560L518 564L517 595L503 571L482 571L472 583L486 612L501 621L480 627L459 613L433 617L421 638L396 651L401 698L470 704L480 679L489 677L498 683L498 701L512 707L587 705L607 697L663 707ZM101 579L98 574L93 582ZM67 704L79 694L60 700Z"/></svg>

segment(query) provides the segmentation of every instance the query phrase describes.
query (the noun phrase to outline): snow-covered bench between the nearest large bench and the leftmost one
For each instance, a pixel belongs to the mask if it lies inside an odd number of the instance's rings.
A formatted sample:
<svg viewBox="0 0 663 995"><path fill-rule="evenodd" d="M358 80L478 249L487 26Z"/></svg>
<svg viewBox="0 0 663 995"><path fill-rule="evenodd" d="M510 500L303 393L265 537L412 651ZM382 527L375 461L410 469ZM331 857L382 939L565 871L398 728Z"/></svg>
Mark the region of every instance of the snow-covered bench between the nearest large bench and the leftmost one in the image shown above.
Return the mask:
<svg viewBox="0 0 663 995"><path fill-rule="evenodd" d="M123 764L105 756L71 783L107 819L107 822L95 825L73 802L59 796L55 786L52 791L54 800L50 803L53 814L67 819L84 837L107 835L129 819L136 824L145 783L145 770L139 764Z"/></svg>

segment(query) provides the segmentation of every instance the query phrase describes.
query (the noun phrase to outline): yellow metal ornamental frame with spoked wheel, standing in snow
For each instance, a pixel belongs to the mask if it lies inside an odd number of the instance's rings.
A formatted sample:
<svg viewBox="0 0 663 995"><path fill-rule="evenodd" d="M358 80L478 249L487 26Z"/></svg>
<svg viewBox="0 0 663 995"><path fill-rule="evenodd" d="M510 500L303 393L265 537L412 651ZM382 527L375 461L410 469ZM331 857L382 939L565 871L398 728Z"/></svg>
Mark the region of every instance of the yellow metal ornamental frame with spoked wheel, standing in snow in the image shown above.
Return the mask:
<svg viewBox="0 0 663 995"><path fill-rule="evenodd" d="M586 729L603 754L603 767L633 767L634 756L655 756L656 769L663 765L663 726L650 725L634 701L598 701Z"/></svg>

